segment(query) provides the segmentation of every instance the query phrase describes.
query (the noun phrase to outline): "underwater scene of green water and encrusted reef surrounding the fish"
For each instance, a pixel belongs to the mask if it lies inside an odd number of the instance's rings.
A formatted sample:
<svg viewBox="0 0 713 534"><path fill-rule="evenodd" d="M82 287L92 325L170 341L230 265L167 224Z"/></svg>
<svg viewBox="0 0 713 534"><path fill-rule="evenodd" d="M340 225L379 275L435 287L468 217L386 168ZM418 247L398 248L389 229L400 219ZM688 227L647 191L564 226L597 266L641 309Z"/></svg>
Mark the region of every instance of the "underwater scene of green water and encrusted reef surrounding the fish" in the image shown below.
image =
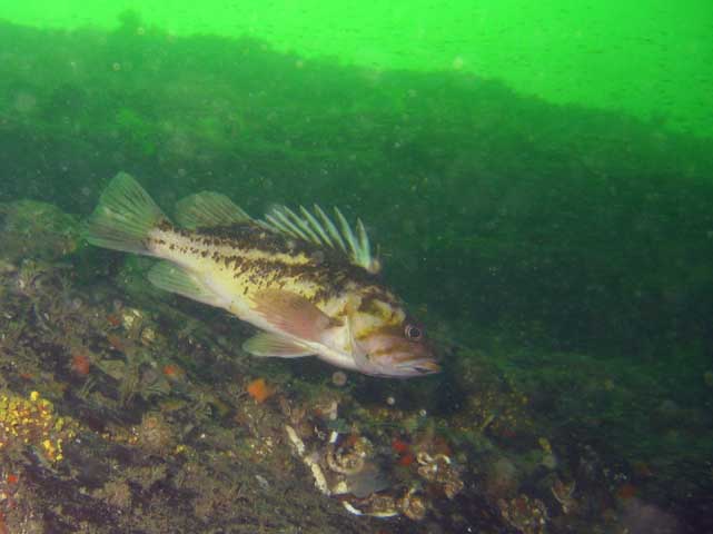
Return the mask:
<svg viewBox="0 0 713 534"><path fill-rule="evenodd" d="M713 532L711 34L702 0L4 2L0 533ZM444 372L246 355L85 244L119 171L360 217Z"/></svg>

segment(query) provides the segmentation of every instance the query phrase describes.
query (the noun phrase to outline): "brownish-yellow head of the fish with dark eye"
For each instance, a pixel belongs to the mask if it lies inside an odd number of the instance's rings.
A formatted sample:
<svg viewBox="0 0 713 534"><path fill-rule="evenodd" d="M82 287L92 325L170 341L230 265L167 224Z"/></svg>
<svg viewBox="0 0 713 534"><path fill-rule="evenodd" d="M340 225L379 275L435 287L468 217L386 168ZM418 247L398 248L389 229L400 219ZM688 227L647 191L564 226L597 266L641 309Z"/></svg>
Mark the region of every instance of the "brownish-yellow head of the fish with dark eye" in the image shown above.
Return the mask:
<svg viewBox="0 0 713 534"><path fill-rule="evenodd" d="M424 327L395 298L362 299L348 322L351 356L362 373L407 378L440 370Z"/></svg>

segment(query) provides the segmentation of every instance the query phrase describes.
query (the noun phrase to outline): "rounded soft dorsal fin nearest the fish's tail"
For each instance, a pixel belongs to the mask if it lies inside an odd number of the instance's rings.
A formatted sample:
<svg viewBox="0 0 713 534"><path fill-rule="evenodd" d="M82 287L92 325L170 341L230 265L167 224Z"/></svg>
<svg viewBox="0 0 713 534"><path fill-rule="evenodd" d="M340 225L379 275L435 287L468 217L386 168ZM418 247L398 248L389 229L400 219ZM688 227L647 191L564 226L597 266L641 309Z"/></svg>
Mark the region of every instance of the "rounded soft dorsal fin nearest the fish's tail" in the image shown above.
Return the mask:
<svg viewBox="0 0 713 534"><path fill-rule="evenodd" d="M202 191L176 202L176 220L187 229L246 222L250 216L225 195Z"/></svg>

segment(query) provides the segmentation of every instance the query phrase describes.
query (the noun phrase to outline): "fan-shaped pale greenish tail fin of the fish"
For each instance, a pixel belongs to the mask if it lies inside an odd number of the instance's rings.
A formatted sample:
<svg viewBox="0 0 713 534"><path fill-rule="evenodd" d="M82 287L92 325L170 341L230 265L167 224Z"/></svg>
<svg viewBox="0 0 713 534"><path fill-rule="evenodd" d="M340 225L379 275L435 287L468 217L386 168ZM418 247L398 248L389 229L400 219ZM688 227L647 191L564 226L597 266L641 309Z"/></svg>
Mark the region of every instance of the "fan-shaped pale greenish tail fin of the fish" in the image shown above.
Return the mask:
<svg viewBox="0 0 713 534"><path fill-rule="evenodd" d="M146 238L168 218L148 192L126 172L113 177L86 226L87 240L98 247L151 254Z"/></svg>

